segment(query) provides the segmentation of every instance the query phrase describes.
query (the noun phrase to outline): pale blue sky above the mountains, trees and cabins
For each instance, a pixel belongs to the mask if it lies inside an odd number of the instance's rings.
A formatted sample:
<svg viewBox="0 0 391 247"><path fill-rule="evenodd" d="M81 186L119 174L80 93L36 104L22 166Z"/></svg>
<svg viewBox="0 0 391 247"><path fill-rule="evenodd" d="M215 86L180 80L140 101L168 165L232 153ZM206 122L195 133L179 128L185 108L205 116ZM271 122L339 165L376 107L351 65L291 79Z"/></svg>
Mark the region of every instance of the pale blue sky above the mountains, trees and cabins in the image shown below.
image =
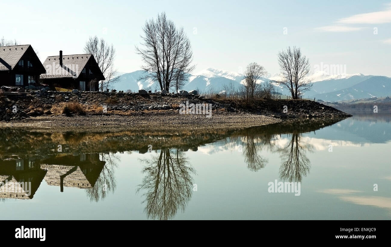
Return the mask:
<svg viewBox="0 0 391 247"><path fill-rule="evenodd" d="M296 45L312 69L321 63L346 65L347 74L391 77L390 0L0 1L0 37L31 44L41 61L59 50L82 53L88 37L97 35L117 49L119 71L138 70L142 61L135 45L142 26L165 11L190 37L195 71L239 72L256 61L278 73L276 54Z"/></svg>

